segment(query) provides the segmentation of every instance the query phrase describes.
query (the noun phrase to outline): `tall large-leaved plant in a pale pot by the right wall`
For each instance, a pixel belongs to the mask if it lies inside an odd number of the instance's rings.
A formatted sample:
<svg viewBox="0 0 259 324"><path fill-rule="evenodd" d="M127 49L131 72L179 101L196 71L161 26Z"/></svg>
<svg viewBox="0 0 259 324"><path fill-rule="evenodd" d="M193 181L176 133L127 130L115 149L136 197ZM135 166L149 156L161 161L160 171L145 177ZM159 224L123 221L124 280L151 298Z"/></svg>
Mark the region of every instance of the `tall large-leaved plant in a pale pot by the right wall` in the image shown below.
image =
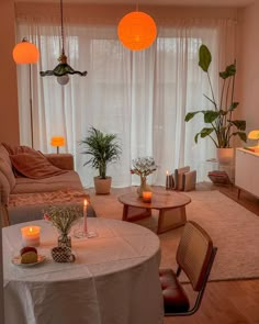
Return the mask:
<svg viewBox="0 0 259 324"><path fill-rule="evenodd" d="M211 89L211 97L206 94L204 94L204 97L212 103L213 109L189 112L185 115L185 122L189 122L199 113L203 114L206 125L195 134L194 141L198 143L199 137L205 138L209 136L217 148L219 163L227 163L228 157L232 158L234 155L234 149L230 148L233 136L238 136L244 142L247 141L245 132L246 121L233 119L233 113L239 104L234 101L236 62L218 74L222 80L218 102L215 99L209 74L211 62L211 52L206 45L201 45L199 49L199 66L206 74Z"/></svg>

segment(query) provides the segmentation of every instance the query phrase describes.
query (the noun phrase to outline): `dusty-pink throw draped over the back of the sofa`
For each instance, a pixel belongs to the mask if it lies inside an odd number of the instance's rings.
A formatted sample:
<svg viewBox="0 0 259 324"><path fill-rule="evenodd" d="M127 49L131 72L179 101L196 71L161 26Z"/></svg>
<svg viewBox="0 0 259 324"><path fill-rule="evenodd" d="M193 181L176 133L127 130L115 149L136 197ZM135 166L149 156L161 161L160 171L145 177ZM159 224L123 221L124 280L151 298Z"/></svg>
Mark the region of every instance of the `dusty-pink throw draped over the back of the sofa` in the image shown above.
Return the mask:
<svg viewBox="0 0 259 324"><path fill-rule="evenodd" d="M56 175L65 174L52 165L42 154L21 153L10 155L13 167L23 176L32 179L44 179Z"/></svg>

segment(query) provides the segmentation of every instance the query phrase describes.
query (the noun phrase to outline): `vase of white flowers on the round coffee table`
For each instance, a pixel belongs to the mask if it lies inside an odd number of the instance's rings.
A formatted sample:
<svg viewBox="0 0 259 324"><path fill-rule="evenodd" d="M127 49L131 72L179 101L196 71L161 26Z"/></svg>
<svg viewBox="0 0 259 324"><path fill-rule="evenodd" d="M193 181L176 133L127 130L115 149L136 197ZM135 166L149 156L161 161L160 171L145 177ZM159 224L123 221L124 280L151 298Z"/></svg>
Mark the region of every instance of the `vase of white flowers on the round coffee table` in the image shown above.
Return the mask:
<svg viewBox="0 0 259 324"><path fill-rule="evenodd" d="M140 177L140 186L137 188L137 193L139 197L143 197L143 191L151 191L151 187L147 185L147 176L157 169L155 159L150 156L138 157L133 159L132 165L131 174Z"/></svg>

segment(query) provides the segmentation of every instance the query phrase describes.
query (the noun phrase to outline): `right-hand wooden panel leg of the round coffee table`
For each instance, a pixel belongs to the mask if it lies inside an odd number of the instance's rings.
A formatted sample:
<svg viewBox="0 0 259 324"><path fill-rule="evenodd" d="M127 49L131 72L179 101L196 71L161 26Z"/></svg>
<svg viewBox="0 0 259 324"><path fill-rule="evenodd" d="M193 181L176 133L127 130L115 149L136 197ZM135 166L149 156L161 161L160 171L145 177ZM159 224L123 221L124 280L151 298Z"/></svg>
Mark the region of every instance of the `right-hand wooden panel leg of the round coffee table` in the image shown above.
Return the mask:
<svg viewBox="0 0 259 324"><path fill-rule="evenodd" d="M185 206L160 210L158 216L157 234L165 233L184 225L187 222Z"/></svg>

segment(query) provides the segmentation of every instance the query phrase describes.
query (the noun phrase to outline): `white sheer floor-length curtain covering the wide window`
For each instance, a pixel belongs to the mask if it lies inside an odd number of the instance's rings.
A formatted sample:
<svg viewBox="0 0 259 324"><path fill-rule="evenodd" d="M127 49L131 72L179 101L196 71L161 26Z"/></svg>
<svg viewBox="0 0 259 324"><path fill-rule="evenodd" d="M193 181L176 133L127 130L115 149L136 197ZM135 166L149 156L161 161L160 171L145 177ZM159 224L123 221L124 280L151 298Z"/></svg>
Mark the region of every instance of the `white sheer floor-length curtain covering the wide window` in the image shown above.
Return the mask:
<svg viewBox="0 0 259 324"><path fill-rule="evenodd" d="M32 67L33 125L35 148L55 152L50 137L64 135L66 148L74 154L76 169L86 187L92 186L97 171L83 167L80 141L90 125L116 133L123 148L120 163L109 167L113 187L137 185L131 176L132 159L154 156L158 170L149 182L165 185L166 170L183 165L205 176L204 161L214 147L204 139L194 145L202 120L184 122L188 111L207 108L202 93L210 94L205 75L198 66L199 46L204 43L213 55L211 77L217 86L217 72L234 60L235 23L230 20L157 21L158 37L148 49L131 52L117 40L116 24L91 21L65 22L65 52L68 64L87 70L85 78L71 76L61 87L55 77L40 77L40 70L53 69L60 54L59 20L21 16L18 40L23 36L40 49L40 64ZM30 145L29 72L19 67L21 142Z"/></svg>

